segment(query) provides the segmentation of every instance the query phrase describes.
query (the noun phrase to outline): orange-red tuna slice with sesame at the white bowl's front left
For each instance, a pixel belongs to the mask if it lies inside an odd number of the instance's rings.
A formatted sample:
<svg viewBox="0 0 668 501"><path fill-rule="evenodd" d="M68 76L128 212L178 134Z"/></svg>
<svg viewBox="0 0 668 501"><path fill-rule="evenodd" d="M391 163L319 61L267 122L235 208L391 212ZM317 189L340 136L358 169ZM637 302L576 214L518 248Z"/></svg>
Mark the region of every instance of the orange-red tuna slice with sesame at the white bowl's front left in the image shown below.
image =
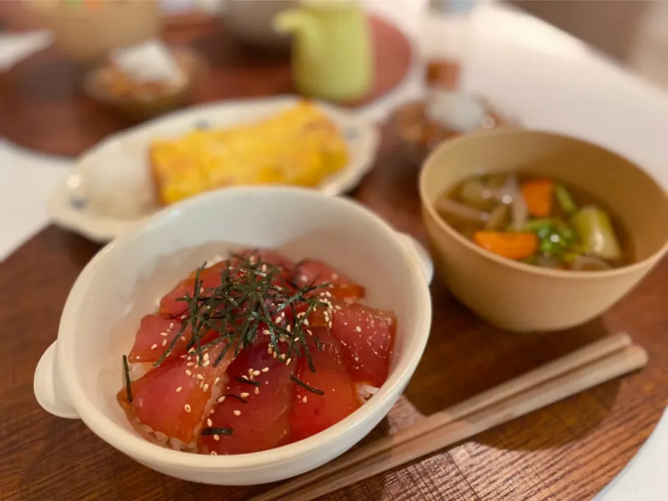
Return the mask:
<svg viewBox="0 0 668 501"><path fill-rule="evenodd" d="M175 447L175 440L192 447L205 414L228 382L225 372L232 361L233 350L214 366L223 348L224 343L220 343L205 351L202 366L198 365L194 353L161 363L132 382L132 402L128 401L125 388L120 390L120 404L140 425L149 428L146 431L158 438L163 434Z"/></svg>

